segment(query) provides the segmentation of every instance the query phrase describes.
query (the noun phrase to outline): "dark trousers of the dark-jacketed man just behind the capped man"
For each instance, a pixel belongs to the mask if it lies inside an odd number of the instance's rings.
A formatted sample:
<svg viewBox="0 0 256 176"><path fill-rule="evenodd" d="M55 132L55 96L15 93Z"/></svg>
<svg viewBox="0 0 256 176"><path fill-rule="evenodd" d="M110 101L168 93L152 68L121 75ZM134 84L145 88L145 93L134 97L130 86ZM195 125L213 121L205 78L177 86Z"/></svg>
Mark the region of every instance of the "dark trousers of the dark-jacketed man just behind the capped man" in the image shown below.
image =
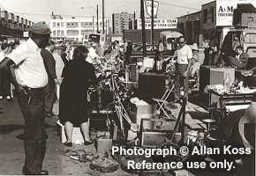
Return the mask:
<svg viewBox="0 0 256 176"><path fill-rule="evenodd" d="M55 101L55 82L49 78L48 84L44 88L45 92L45 105L44 109L46 113L52 111L52 107Z"/></svg>

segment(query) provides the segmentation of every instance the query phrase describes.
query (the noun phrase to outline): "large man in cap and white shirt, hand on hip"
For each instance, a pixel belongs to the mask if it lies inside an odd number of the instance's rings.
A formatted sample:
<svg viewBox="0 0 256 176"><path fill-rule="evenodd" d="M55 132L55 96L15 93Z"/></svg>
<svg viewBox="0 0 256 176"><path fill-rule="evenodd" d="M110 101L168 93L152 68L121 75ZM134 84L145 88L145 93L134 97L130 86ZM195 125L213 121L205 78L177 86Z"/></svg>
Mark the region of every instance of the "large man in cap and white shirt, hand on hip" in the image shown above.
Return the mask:
<svg viewBox="0 0 256 176"><path fill-rule="evenodd" d="M4 58L0 70L20 93L18 102L25 120L23 174L47 175L48 171L41 170L47 136L44 131L44 87L48 83L41 48L46 47L51 32L45 22L38 22L31 27L30 33L26 42ZM16 78L11 74L12 64Z"/></svg>

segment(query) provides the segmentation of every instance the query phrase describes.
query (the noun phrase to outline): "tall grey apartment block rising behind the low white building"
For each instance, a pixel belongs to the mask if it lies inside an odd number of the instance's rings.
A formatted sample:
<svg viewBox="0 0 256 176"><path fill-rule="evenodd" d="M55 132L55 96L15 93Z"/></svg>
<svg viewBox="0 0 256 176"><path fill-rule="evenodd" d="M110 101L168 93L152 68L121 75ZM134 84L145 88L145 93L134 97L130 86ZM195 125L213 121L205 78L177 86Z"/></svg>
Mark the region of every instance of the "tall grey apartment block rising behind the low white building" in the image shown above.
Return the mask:
<svg viewBox="0 0 256 176"><path fill-rule="evenodd" d="M113 33L123 33L124 29L129 29L129 22L135 18L135 14L128 14L128 12L113 13L112 25Z"/></svg>

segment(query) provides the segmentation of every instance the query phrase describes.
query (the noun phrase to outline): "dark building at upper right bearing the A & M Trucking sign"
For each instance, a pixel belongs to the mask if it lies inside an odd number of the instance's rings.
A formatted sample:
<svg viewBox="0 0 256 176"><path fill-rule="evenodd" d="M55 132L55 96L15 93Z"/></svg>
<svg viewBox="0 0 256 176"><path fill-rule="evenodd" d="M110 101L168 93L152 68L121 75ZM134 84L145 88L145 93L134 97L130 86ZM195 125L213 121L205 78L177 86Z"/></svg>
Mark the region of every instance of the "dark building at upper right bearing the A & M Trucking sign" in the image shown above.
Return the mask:
<svg viewBox="0 0 256 176"><path fill-rule="evenodd" d="M201 11L179 17L177 26L180 32L187 38L189 44L197 40L200 45L202 40L211 40L215 33L222 33L223 37L230 28L236 26L233 18L238 4L252 4L256 7L255 0L215 0L202 4ZM251 20L252 24L254 18L251 14L249 17L247 13L246 17L248 20Z"/></svg>

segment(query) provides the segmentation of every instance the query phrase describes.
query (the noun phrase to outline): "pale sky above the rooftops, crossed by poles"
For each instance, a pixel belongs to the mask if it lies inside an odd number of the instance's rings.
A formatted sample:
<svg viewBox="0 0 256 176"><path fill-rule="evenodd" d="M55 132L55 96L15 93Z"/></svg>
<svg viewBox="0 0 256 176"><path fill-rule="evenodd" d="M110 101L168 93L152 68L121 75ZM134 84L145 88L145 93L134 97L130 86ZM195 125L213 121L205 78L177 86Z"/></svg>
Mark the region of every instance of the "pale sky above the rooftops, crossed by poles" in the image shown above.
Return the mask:
<svg viewBox="0 0 256 176"><path fill-rule="evenodd" d="M159 0L157 18L172 19L187 13L200 11L201 4L213 0ZM52 12L63 18L96 18L97 4L99 18L102 18L102 0L0 0L5 11L14 13L33 22L49 22ZM113 13L127 11L139 18L140 0L104 0L104 16L111 18ZM2 9L2 8L1 8ZM146 13L146 11L145 11ZM149 18L146 14L146 18Z"/></svg>

